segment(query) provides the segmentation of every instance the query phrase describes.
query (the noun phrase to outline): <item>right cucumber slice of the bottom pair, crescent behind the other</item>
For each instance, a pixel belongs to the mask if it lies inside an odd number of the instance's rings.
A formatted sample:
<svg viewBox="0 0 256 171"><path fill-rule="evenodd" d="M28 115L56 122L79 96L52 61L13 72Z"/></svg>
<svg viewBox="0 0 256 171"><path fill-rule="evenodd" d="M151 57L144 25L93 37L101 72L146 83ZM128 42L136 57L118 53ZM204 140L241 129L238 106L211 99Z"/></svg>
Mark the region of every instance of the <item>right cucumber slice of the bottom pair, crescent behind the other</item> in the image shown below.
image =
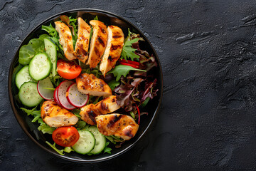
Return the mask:
<svg viewBox="0 0 256 171"><path fill-rule="evenodd" d="M92 151L90 151L90 154L92 155L97 155L102 150L104 150L105 145L106 145L106 138L104 135L100 133L100 131L97 129L95 126L90 126L88 130L95 136L95 147L93 148Z"/></svg>

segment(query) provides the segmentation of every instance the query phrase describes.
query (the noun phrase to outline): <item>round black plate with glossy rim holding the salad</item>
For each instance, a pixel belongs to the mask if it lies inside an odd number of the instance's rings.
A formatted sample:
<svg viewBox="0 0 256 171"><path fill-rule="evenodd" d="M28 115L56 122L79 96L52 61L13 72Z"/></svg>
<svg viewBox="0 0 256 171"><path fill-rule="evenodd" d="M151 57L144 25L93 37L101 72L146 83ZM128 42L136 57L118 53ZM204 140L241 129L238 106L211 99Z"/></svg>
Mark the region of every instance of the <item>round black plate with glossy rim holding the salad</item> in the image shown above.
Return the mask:
<svg viewBox="0 0 256 171"><path fill-rule="evenodd" d="M142 49L149 51L149 54L153 54L156 57L156 62L158 63L158 67L154 68L152 73L154 73L154 76L157 78L157 88L159 89L158 95L153 99L149 101L149 104L146 105L146 108L144 109L149 113L149 115L142 116L141 123L139 125L139 130L137 132L137 135L132 138L131 140L124 142L122 144L122 147L120 148L114 148L112 147L112 154L100 154L100 155L79 155L76 152L70 152L66 153L65 155L59 155L58 152L55 152L51 147L49 147L46 144L46 140L49 142L53 142L51 140L51 136L47 134L43 134L40 131L38 131L38 124L37 123L31 123L31 117L28 117L25 113L21 111L21 109L18 108L18 103L15 100L14 96L17 95L17 88L15 85L15 82L12 80L14 68L18 66L18 51L24 44L28 43L28 41L31 38L38 38L38 36L41 33L46 33L44 31L41 31L42 25L48 25L51 21L58 19L60 15L68 15L73 17L81 16L82 19L87 19L87 21L90 21L93 19L96 15L98 16L100 21L103 21L107 25L116 25L122 28L124 31L124 35L127 36L127 28L130 28L131 31L135 33L139 33L145 40L144 43L142 43ZM141 46L141 43L140 43ZM113 157L117 157L118 155L124 153L125 151L129 150L140 138L142 138L142 135L146 133L146 130L148 130L149 126L153 122L154 118L156 118L156 114L159 111L161 98L163 95L163 74L161 71L161 65L159 62L159 57L156 54L156 51L154 50L153 46L149 42L149 40L144 36L142 31L139 31L139 29L134 26L129 21L123 19L120 16L117 16L115 14L112 14L107 11L97 10L97 9L75 9L70 11L65 11L60 14L55 14L54 16L51 16L46 21L43 21L41 24L36 26L36 28L33 29L30 33L28 33L28 36L22 41L21 45L18 47L18 50L16 51L16 54L13 58L13 61L11 62L11 66L9 69L9 81L8 81L8 88L9 88L9 99L11 102L11 108L14 111L14 115L16 117L16 120L18 120L19 125L21 125L21 128L23 131L28 135L33 142L36 142L36 144L43 148L44 150L50 152L53 155L56 155L58 157L61 157L66 160L73 160L75 162L100 162L103 160L109 160Z"/></svg>

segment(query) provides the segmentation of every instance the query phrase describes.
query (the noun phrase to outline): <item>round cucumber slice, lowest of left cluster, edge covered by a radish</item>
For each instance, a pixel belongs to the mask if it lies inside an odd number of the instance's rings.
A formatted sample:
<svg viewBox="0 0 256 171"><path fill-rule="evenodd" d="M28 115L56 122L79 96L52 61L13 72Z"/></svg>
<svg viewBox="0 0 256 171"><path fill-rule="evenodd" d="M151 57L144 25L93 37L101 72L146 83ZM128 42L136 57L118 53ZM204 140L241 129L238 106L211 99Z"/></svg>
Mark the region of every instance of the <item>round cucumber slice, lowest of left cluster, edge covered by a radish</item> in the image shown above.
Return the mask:
<svg viewBox="0 0 256 171"><path fill-rule="evenodd" d="M33 82L26 82L21 85L21 88L18 91L18 98L23 105L28 107L34 107L43 100L38 93L37 84Z"/></svg>

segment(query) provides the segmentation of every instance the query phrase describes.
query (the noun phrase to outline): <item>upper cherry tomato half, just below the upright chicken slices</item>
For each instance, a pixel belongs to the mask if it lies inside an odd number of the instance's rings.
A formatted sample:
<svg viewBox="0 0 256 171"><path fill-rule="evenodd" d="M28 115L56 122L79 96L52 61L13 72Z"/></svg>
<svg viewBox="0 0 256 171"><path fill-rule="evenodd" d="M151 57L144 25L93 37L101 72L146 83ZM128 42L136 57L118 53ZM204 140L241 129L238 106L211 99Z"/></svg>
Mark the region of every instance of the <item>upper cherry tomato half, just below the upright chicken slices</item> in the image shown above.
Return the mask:
<svg viewBox="0 0 256 171"><path fill-rule="evenodd" d="M62 59L57 61L57 72L65 79L75 79L79 76L81 71L82 68L72 61L64 61Z"/></svg>

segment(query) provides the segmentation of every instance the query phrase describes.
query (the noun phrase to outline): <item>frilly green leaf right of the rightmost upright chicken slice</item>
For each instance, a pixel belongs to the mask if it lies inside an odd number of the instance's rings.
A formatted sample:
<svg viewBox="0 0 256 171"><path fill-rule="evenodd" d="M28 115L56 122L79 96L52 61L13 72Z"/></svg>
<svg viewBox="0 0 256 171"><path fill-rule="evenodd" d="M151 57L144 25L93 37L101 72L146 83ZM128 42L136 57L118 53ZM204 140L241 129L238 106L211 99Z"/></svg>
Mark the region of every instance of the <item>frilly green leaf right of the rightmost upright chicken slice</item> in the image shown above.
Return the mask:
<svg viewBox="0 0 256 171"><path fill-rule="evenodd" d="M130 58L132 61L134 61L134 58L139 58L137 54L134 52L137 50L136 48L132 48L132 43L137 43L139 41L139 38L134 38L131 41L125 41L124 46L122 48L121 58L127 60L127 58Z"/></svg>

